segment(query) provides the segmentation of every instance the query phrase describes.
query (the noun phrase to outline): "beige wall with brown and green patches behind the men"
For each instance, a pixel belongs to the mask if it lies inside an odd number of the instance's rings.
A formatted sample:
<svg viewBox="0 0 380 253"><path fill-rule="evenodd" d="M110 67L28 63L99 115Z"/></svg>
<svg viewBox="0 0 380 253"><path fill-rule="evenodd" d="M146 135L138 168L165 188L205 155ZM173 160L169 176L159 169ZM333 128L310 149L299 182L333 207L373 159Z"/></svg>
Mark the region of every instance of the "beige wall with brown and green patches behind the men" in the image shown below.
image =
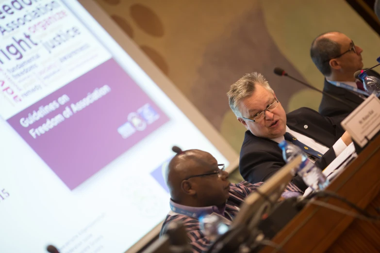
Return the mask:
<svg viewBox="0 0 380 253"><path fill-rule="evenodd" d="M314 37L341 31L380 55L379 36L344 0L97 0L236 151L245 128L228 107L229 86L259 71L287 111L317 109L321 95L273 74L281 66L322 88L309 57Z"/></svg>

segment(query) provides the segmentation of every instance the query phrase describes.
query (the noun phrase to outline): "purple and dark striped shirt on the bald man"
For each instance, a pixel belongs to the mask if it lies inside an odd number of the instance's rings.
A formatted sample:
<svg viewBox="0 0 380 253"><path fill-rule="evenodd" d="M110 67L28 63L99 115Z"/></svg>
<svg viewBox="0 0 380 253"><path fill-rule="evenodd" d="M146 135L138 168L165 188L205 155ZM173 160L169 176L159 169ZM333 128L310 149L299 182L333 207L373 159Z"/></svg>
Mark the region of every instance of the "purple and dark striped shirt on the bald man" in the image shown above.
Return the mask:
<svg viewBox="0 0 380 253"><path fill-rule="evenodd" d="M199 221L197 215L185 215L174 212L176 210L173 207L179 207L182 210L187 209L189 213L197 213L197 209L200 209L198 213L203 213L206 210L208 213L215 213L224 216L228 220L233 220L236 214L239 212L239 206L244 202L244 199L249 195L249 193L253 192L261 186L263 182L251 184L247 181L242 181L238 184L230 185L230 197L227 200L225 208L218 208L216 206L207 206L207 207L192 207L192 206L182 206L171 201L170 206L172 211L166 216L164 224L162 225L160 237L164 234L164 228L170 222L182 222L183 226L186 228L187 236L189 238L189 243L193 248L194 253L201 253L207 251L209 247L212 245L212 242L200 231L199 229ZM297 188L294 184L290 183L285 191L282 193L282 197L294 197L301 196L303 192ZM209 210L209 211L207 211ZM218 211L219 210L219 211ZM196 216L196 217L194 217Z"/></svg>

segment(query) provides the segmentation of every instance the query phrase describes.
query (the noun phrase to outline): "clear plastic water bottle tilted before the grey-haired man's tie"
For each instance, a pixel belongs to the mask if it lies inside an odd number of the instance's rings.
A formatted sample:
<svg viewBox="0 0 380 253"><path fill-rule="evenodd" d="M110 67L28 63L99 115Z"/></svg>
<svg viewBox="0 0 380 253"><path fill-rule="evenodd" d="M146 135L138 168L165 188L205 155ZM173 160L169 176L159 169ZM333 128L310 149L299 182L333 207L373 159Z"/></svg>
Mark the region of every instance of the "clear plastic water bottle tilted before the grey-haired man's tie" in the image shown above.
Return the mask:
<svg viewBox="0 0 380 253"><path fill-rule="evenodd" d="M279 147L282 149L282 158L286 163L298 155L302 156L297 174L302 177L307 186L313 190L323 190L329 185L329 179L322 173L321 169L308 159L308 156L300 148L286 141L279 143Z"/></svg>

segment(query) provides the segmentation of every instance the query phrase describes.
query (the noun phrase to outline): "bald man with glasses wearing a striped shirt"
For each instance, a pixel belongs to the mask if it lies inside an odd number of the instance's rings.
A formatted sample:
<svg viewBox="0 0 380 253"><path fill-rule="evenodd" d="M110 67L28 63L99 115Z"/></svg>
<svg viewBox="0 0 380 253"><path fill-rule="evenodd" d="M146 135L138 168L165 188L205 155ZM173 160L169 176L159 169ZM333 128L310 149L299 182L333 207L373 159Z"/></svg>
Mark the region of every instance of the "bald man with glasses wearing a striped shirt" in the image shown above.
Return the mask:
<svg viewBox="0 0 380 253"><path fill-rule="evenodd" d="M171 211L166 216L160 236L169 222L181 221L193 252L207 251L211 242L199 230L198 218L215 214L230 225L244 198L262 184L252 185L246 181L231 184L228 177L224 164L218 164L211 154L197 149L179 150L166 171ZM283 194L284 197L290 197L299 196L302 191L290 184L284 193L287 194Z"/></svg>

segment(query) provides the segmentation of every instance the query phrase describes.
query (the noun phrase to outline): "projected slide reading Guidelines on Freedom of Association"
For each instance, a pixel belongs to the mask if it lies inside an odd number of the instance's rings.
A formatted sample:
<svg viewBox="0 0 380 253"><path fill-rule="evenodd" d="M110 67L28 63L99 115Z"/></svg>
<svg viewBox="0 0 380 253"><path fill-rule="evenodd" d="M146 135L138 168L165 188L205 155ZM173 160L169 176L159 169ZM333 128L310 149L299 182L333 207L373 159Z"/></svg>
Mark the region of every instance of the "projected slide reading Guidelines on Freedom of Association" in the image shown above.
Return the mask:
<svg viewBox="0 0 380 253"><path fill-rule="evenodd" d="M75 0L0 0L0 253L123 253L173 145L220 149Z"/></svg>

